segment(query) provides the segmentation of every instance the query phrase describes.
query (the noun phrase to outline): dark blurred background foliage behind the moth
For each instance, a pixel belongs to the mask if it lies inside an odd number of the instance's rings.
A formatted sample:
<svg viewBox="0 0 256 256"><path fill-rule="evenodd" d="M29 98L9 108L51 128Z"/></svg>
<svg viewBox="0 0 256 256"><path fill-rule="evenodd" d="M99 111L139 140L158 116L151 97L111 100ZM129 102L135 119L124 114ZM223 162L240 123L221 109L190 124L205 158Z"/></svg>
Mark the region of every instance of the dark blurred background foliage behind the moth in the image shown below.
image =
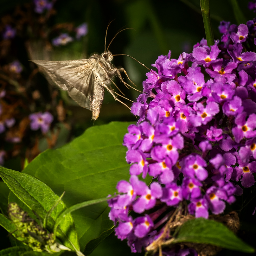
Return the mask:
<svg viewBox="0 0 256 256"><path fill-rule="evenodd" d="M215 40L221 37L218 31L220 21L240 24L234 9L239 10L246 21L254 18L254 13L247 9L248 2L210 1ZM66 92L49 86L29 59L74 60L88 58L94 53L101 54L104 51L107 25L113 19L108 29L106 45L117 31L132 29L118 34L109 50L112 54L129 54L149 68L159 55L167 55L171 50L171 58L178 58L184 51L191 52L193 45L205 37L200 0L57 0L47 18L45 13L34 12L32 0L1 0L0 3L2 33L8 21L18 31L16 37L9 42L8 50L6 40L1 38L0 90L6 90L12 95L8 106L17 108L16 112L13 111L13 116L18 127L16 129L22 133L18 143L8 141L6 132L0 134L0 150L5 151L3 165L18 171L43 150L60 147L79 136L89 126L114 120L136 122L136 117L128 108L115 102L112 96L106 93L99 119L93 123L92 113L78 106ZM22 12L27 23L21 22ZM50 44L58 33L71 33L84 22L87 23L88 33L80 40L57 47ZM47 34L47 40L41 32ZM20 76L6 77L6 65L16 59L22 64L22 73ZM148 72L145 67L127 56L114 57L113 64L116 67L124 67L138 89L142 90L142 81L146 79L145 74ZM138 92L128 90L118 79L115 81L125 93L125 97L136 100ZM17 102L22 104L16 106ZM131 102L124 102L131 106ZM29 121L26 118L30 113L38 111L48 111L54 116L48 133L42 134L40 131L29 129ZM8 247L6 240L8 239L1 240L2 248ZM125 241L118 241L112 234L92 255L131 255L125 244Z"/></svg>

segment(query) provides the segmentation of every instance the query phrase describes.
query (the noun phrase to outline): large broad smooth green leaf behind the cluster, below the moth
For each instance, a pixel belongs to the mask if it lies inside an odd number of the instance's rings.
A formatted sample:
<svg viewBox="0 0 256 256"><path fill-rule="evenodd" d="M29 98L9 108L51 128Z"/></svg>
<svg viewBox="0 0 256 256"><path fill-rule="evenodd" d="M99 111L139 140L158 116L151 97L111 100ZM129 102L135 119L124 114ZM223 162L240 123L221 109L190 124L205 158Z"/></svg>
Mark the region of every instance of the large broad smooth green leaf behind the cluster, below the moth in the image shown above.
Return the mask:
<svg viewBox="0 0 256 256"><path fill-rule="evenodd" d="M90 127L62 148L40 154L23 173L45 182L58 195L65 191L63 201L68 207L113 194L117 182L130 177L127 149L122 145L128 125L112 122ZM93 240L87 255L113 227L108 212L107 203L102 202L72 213L81 251Z"/></svg>

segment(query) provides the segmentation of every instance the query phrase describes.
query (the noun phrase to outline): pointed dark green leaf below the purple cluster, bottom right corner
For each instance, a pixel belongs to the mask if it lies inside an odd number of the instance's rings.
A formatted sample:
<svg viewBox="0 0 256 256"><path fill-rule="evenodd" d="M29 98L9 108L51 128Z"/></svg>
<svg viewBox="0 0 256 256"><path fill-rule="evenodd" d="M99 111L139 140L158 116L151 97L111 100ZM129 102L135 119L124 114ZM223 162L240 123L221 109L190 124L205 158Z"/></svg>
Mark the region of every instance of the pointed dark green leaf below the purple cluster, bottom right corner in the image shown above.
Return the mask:
<svg viewBox="0 0 256 256"><path fill-rule="evenodd" d="M203 243L230 250L253 253L254 248L240 240L220 222L198 218L184 223L173 243Z"/></svg>

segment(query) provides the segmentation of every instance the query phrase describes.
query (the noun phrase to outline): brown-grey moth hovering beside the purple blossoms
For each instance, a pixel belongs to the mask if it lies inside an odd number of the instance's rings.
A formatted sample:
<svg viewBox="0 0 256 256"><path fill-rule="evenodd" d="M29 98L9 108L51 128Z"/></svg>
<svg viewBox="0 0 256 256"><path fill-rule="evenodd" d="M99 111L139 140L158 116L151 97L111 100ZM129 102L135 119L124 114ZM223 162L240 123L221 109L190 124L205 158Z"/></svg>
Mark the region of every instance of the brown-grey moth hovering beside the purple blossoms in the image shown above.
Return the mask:
<svg viewBox="0 0 256 256"><path fill-rule="evenodd" d="M107 35L107 29L106 29L106 35ZM118 35L123 30L119 31L116 35ZM114 92L113 89L111 88L111 83L113 83L116 86L116 84L113 82L113 78L115 76L118 76L120 80L125 84L126 87L130 86L128 83L126 83L123 80L121 76L121 72L124 72L127 78L130 80L125 69L116 68L111 62L113 60L113 56L126 55L126 54L113 55L108 50L110 44L106 49L106 36L105 36L104 52L101 55L93 54L89 59L72 60L72 61L40 61L40 60L32 60L32 61L40 67L40 70L46 75L46 78L50 83L54 82L62 90L67 91L69 96L78 105L91 110L93 113L92 119L97 120L99 117L100 108L104 99L105 89L112 94L115 100L118 100L119 102L124 104L126 107L128 107L125 103L123 103L120 99L118 99L116 95L121 96L123 98L125 97Z"/></svg>

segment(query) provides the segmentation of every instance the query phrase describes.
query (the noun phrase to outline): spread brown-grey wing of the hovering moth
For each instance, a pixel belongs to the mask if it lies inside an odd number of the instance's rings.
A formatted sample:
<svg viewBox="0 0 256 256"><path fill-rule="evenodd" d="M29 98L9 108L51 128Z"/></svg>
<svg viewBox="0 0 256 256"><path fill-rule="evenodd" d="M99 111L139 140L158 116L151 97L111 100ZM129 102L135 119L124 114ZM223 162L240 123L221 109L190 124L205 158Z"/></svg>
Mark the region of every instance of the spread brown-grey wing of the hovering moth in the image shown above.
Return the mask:
<svg viewBox="0 0 256 256"><path fill-rule="evenodd" d="M39 61L33 60L46 75L47 80L55 83L81 107L91 110L90 95L93 93L93 60Z"/></svg>

